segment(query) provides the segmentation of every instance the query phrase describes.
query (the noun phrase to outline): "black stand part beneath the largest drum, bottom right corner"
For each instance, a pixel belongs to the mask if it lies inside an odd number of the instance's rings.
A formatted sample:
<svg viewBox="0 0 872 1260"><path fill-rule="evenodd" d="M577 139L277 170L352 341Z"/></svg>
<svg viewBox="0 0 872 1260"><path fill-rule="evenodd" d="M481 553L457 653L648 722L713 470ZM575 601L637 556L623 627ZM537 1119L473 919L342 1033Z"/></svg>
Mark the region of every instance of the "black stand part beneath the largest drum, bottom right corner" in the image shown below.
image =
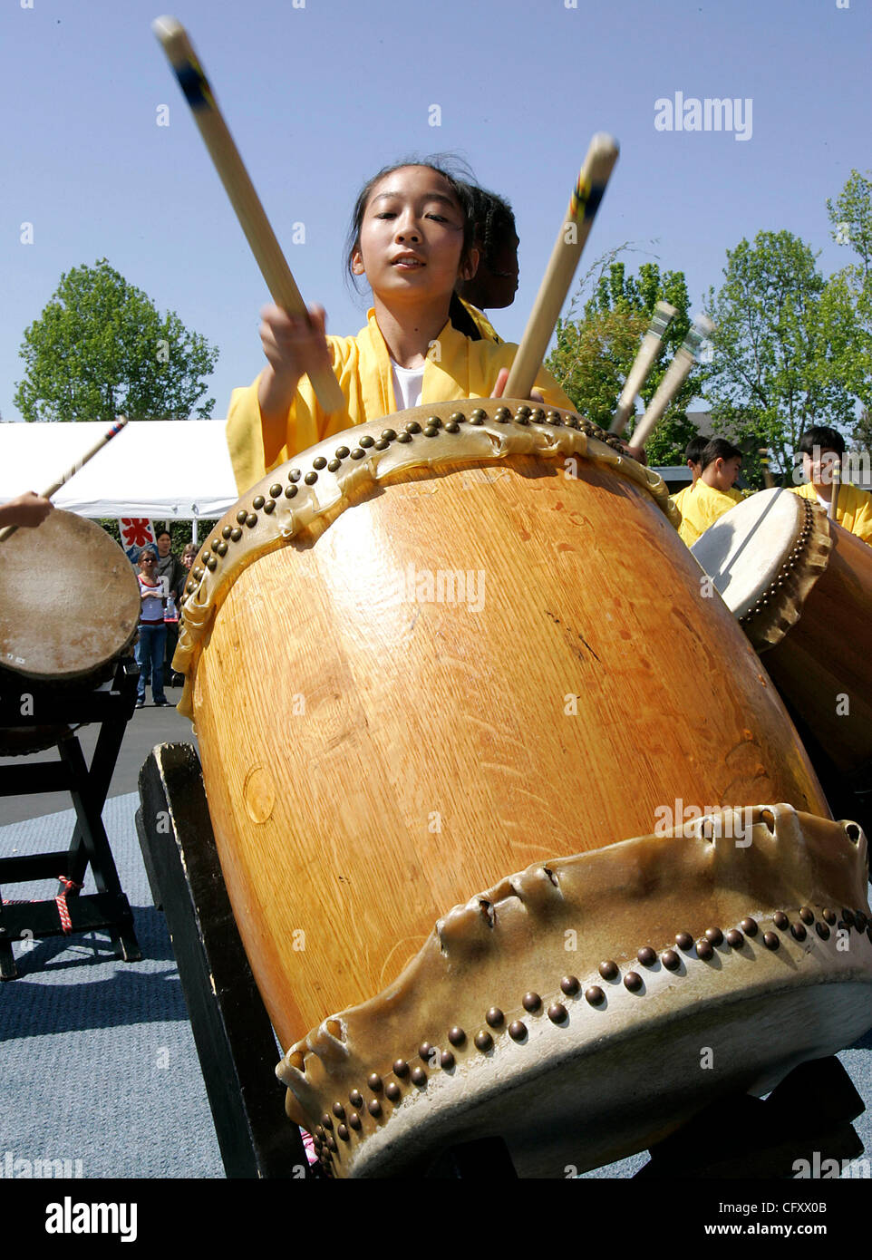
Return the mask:
<svg viewBox="0 0 872 1260"><path fill-rule="evenodd" d="M795 1067L765 1100L741 1094L707 1108L651 1147L650 1163L636 1178L790 1178L800 1160L817 1167L819 1177L825 1160L863 1154L851 1123L863 1110L838 1058L815 1058Z"/></svg>

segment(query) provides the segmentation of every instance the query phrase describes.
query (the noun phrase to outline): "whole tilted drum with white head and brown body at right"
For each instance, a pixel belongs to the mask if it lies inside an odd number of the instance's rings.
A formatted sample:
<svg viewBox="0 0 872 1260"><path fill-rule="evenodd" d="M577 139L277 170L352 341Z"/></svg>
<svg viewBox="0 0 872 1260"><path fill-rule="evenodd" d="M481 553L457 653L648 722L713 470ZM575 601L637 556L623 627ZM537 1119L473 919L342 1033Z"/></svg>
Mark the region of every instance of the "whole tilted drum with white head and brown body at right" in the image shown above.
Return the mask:
<svg viewBox="0 0 872 1260"><path fill-rule="evenodd" d="M716 522L693 554L838 770L872 782L872 547L774 489Z"/></svg>

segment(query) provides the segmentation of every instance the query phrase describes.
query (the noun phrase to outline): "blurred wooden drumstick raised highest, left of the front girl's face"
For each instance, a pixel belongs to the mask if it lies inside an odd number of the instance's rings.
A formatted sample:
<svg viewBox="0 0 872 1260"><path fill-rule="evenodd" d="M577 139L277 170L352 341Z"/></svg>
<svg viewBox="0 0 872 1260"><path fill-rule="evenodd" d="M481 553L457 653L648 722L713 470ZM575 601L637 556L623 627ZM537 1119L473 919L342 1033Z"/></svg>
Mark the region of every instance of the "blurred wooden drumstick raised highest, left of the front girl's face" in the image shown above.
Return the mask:
<svg viewBox="0 0 872 1260"><path fill-rule="evenodd" d="M194 115L194 122L209 150L231 204L246 233L257 266L277 306L289 315L302 315L309 323L309 311L287 266L281 246L266 217L261 199L244 168L239 150L212 94L208 79L197 60L185 28L175 18L158 18L151 29L160 40L185 100ZM329 367L310 373L318 401L326 412L345 411L345 399L339 382Z"/></svg>

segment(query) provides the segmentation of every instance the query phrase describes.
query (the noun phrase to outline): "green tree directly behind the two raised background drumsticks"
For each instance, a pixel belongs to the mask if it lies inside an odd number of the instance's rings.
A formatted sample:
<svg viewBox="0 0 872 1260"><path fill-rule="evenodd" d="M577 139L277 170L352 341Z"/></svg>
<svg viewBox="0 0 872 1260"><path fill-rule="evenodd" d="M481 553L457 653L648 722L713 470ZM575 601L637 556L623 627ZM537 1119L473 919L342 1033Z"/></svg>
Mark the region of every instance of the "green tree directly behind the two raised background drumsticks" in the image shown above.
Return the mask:
<svg viewBox="0 0 872 1260"><path fill-rule="evenodd" d="M592 272L594 268L582 280L568 318L557 323L557 344L546 367L581 415L607 428L658 301L670 302L678 314L643 386L645 406L654 397L673 352L691 326L689 301L683 272L660 272L653 262L643 263L638 276L628 276L624 263L611 253L599 276L592 278ZM576 319L575 311L591 285L583 318ZM696 433L692 421L687 418L687 406L698 392L698 379L699 372L694 368L651 435L646 445L650 464L684 462L684 447ZM625 436L631 436L633 427L631 418Z"/></svg>

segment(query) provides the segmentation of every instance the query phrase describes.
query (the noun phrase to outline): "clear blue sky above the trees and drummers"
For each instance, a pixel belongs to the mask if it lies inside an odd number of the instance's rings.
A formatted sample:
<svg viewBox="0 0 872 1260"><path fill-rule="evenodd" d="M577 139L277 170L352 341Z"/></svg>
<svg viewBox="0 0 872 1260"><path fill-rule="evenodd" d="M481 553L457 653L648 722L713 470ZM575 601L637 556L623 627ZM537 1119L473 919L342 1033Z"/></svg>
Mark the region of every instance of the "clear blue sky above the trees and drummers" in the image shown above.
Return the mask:
<svg viewBox="0 0 872 1260"><path fill-rule="evenodd" d="M0 10L4 420L19 418L24 329L62 272L100 257L219 346L214 416L262 365L266 289L151 34L159 3L6 0ZM494 314L509 340L523 331L595 131L612 132L621 158L582 270L633 241L684 270L698 310L725 251L761 229L800 236L827 273L848 261L830 241L825 202L852 168L872 166L868 0L571 3L185 0L175 10L330 331L364 323L340 261L357 193L408 151L454 150L513 203L520 287ZM750 98L750 139L657 130L655 101L675 92ZM291 243L295 222L305 244ZM33 244L20 243L23 223Z"/></svg>

